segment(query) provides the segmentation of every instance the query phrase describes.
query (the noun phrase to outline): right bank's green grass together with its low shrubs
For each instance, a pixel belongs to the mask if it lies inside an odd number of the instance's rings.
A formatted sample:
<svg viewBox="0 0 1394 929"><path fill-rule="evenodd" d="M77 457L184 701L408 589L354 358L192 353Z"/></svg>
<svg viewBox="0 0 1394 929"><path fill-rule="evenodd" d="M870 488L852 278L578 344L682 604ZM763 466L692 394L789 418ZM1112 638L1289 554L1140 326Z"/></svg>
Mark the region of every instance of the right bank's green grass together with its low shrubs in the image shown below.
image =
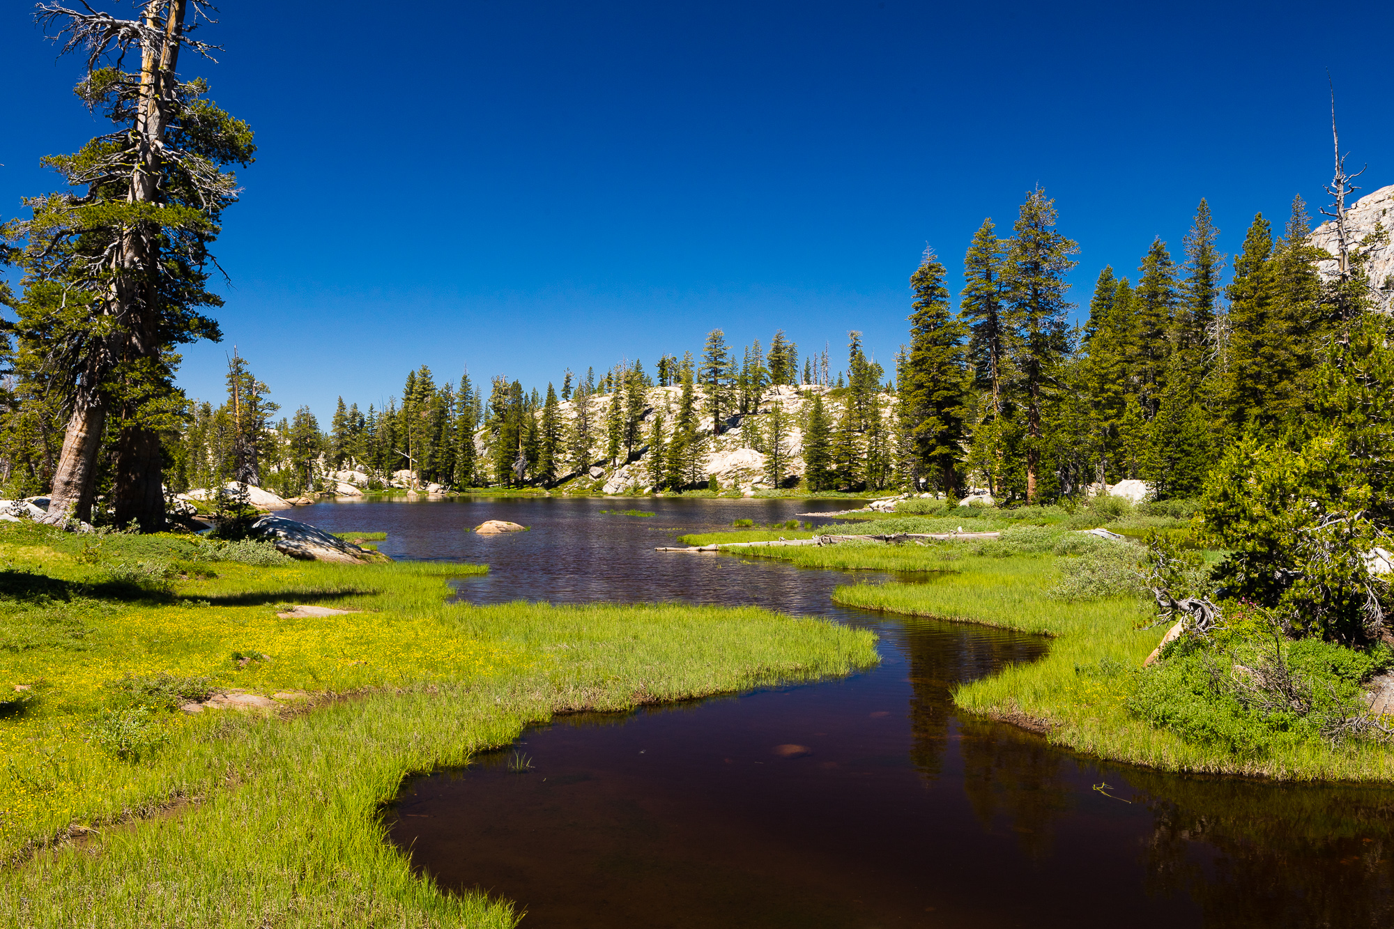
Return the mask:
<svg viewBox="0 0 1394 929"><path fill-rule="evenodd" d="M959 518L935 515L942 506L909 509L923 515L905 516L902 509L864 523L863 531L945 531ZM841 586L834 600L845 605L1050 636L1046 657L966 683L955 700L966 710L1047 732L1061 745L1163 770L1394 780L1387 724L1366 714L1363 697L1369 681L1394 665L1394 651L1383 644L1294 639L1271 611L1225 601L1227 619L1213 633L1182 636L1161 661L1144 668L1170 625L1158 625L1147 589L1157 580L1149 579L1156 547L1149 554L1132 541L1071 530L1092 520L1052 509L981 509L973 527L1001 531L990 540L739 551L809 568L919 577ZM1154 520L1163 530L1154 537L1165 538L1182 531L1185 512L1195 512L1175 509L1168 515L1121 508L1108 526ZM711 544L747 534L686 540ZM1171 551L1181 558L1179 547L1172 544ZM1204 587L1221 552L1190 551L1182 561L1171 579L1178 596Z"/></svg>

